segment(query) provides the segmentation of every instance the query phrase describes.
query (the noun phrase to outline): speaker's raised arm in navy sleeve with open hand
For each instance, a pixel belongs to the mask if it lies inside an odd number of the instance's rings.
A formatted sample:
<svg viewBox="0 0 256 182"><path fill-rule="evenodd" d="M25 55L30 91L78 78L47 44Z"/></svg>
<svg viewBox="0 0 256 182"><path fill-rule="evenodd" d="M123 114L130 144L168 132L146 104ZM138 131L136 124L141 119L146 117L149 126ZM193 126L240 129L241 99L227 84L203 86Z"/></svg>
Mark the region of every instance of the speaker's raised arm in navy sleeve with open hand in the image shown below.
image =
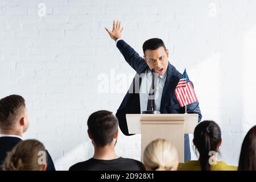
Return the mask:
<svg viewBox="0 0 256 182"><path fill-rule="evenodd" d="M123 27L121 26L121 22L115 20L113 21L113 30L110 31L106 28L106 31L109 33L110 38L112 38L117 42L117 48L122 53L123 57L125 57L126 62L138 72L141 65L146 64L143 57L139 56L138 52L136 52L129 44L127 44L124 40L121 39L121 34ZM119 40L118 40L119 39ZM121 39L121 40L120 40Z"/></svg>

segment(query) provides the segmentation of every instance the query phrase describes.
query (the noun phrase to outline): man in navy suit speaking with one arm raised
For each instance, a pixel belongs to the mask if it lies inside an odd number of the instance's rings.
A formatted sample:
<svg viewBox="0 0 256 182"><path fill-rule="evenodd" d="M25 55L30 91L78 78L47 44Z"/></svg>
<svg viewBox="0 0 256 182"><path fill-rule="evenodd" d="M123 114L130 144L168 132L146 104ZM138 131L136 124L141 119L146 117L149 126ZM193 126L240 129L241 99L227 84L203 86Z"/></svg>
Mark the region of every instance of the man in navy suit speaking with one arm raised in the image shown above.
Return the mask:
<svg viewBox="0 0 256 182"><path fill-rule="evenodd" d="M106 27L105 29L110 38L115 40L126 62L137 72L137 76L134 77L116 113L122 133L130 135L127 129L126 114L141 114L148 110L159 111L161 114L185 113L185 107L180 107L175 96L175 88L182 74L169 63L169 51L163 40L158 38L146 40L142 46L144 56L141 57L121 38L123 30L121 22L114 20L112 31ZM158 75L156 81L151 76L153 74ZM198 121L200 122L202 115L199 102L187 105L187 113L199 114ZM184 137L184 160L186 162L191 159L191 152L188 134Z"/></svg>

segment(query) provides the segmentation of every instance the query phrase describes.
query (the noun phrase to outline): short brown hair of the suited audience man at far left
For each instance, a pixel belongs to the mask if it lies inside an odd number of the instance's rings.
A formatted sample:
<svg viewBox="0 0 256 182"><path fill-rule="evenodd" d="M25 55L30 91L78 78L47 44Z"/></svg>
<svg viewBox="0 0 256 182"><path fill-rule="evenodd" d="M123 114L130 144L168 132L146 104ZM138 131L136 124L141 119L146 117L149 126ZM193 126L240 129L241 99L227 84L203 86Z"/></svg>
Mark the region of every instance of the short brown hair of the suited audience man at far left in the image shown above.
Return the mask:
<svg viewBox="0 0 256 182"><path fill-rule="evenodd" d="M0 100L0 128L10 129L15 124L16 117L26 107L22 96L11 95Z"/></svg>

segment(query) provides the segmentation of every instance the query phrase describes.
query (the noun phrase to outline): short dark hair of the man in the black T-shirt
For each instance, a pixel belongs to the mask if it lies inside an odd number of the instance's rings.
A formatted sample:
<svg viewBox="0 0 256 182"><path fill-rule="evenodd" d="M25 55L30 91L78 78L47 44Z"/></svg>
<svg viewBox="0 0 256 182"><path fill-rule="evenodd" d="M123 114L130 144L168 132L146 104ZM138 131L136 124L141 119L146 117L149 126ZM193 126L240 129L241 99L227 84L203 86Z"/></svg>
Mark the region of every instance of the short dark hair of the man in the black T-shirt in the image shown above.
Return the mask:
<svg viewBox="0 0 256 182"><path fill-rule="evenodd" d="M118 129L118 119L110 111L99 110L89 116L87 125L93 142L104 147L113 141Z"/></svg>

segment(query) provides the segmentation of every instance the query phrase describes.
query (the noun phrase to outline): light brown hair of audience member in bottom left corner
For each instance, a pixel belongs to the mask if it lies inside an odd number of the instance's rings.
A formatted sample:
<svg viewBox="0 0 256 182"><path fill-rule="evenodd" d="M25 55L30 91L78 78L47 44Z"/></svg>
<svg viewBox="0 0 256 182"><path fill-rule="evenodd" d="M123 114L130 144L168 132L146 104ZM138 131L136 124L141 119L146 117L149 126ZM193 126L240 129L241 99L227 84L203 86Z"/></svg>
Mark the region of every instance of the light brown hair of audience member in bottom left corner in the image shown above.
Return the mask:
<svg viewBox="0 0 256 182"><path fill-rule="evenodd" d="M39 171L43 164L39 164L40 152L46 154L46 148L38 140L24 140L19 142L13 150L7 152L3 171ZM47 155L45 155L47 161Z"/></svg>

